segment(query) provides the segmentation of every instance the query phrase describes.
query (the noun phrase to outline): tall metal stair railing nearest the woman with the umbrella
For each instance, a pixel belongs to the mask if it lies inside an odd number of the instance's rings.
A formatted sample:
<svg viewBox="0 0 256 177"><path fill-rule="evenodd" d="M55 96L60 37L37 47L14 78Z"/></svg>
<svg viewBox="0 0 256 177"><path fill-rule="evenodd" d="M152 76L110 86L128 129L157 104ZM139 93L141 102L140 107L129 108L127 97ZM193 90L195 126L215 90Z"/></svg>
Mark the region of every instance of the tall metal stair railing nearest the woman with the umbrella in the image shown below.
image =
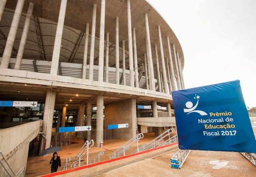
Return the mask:
<svg viewBox="0 0 256 177"><path fill-rule="evenodd" d="M85 144L83 145L83 147L78 152L78 154L76 155L76 157L74 158L72 164L70 165L70 168L76 167L77 165L80 167L80 161L83 159L83 157L85 155L87 155L87 163L86 163L86 165L88 165L89 150L90 150L91 147L93 147L93 145L94 145L94 141L93 140L90 140L90 142L87 140L85 142Z"/></svg>

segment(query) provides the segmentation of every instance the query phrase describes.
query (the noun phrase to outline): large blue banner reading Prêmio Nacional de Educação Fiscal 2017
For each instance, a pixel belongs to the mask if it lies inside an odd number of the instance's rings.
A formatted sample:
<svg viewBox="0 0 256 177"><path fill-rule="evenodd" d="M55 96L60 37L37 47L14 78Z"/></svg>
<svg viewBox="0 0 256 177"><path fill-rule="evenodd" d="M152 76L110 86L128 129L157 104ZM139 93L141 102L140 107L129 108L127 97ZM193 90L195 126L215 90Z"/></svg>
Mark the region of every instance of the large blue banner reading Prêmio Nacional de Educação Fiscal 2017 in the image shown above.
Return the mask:
<svg viewBox="0 0 256 177"><path fill-rule="evenodd" d="M172 95L180 149L256 152L239 80Z"/></svg>

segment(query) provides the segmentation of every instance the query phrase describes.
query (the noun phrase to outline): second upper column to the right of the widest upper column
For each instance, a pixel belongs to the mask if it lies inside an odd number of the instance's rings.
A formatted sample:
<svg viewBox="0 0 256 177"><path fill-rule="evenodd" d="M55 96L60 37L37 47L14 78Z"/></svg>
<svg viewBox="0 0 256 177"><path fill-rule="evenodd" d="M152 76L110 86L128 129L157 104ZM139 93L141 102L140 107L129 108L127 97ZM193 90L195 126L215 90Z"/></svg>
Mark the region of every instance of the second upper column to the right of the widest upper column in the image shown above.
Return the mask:
<svg viewBox="0 0 256 177"><path fill-rule="evenodd" d="M90 36L90 66L89 66L89 80L93 80L93 62L94 62L94 45L95 45L95 30L96 30L96 10L97 5L93 5L93 21L92 33Z"/></svg>

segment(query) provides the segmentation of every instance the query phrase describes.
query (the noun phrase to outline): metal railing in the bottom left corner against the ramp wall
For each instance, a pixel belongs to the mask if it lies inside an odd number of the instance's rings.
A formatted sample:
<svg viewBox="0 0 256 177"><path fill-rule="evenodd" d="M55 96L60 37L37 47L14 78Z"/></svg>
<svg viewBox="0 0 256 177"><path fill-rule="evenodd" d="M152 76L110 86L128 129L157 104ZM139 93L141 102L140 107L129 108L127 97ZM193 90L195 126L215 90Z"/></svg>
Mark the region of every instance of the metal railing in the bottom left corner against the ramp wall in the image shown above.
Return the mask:
<svg viewBox="0 0 256 177"><path fill-rule="evenodd" d="M15 174L1 151L0 151L0 164L1 164L0 177L25 177L25 166L23 166Z"/></svg>

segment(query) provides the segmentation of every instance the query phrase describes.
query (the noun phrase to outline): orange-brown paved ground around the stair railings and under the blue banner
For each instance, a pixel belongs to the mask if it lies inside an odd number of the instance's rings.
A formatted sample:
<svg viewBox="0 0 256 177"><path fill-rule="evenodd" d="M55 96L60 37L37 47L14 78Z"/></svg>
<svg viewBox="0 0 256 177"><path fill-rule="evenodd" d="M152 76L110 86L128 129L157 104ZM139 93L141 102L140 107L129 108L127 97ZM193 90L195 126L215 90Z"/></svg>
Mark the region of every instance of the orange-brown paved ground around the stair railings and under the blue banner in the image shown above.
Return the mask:
<svg viewBox="0 0 256 177"><path fill-rule="evenodd" d="M251 117L251 124L254 135L256 135L256 117ZM140 145L153 140L153 133L145 134ZM77 144L63 147L58 154L64 162L65 157L72 157L77 154L82 141ZM104 151L100 161L109 160L109 155L118 147L123 145L124 140L105 140L104 148L93 147L90 150L89 162L99 151ZM127 154L130 154L136 146L133 146ZM60 177L256 177L256 167L253 166L239 152L214 152L192 150L186 162L180 170L172 169L170 158L178 150L177 145L165 147L123 160L110 162L95 167L77 170ZM29 157L26 170L27 177L34 177L50 173L50 156ZM85 165L85 161L81 165ZM58 170L59 171L59 170Z"/></svg>

